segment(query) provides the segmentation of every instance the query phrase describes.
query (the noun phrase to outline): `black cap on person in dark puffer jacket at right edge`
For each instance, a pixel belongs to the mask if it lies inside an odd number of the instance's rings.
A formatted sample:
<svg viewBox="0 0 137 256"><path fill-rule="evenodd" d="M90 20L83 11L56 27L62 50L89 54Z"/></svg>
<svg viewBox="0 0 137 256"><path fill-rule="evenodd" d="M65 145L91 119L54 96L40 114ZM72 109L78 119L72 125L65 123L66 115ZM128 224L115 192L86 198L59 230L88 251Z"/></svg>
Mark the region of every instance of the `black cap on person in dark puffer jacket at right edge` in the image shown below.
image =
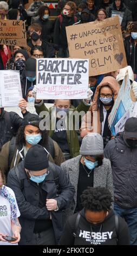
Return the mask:
<svg viewBox="0 0 137 256"><path fill-rule="evenodd" d="M126 138L137 138L137 118L128 118L125 123L125 136Z"/></svg>

